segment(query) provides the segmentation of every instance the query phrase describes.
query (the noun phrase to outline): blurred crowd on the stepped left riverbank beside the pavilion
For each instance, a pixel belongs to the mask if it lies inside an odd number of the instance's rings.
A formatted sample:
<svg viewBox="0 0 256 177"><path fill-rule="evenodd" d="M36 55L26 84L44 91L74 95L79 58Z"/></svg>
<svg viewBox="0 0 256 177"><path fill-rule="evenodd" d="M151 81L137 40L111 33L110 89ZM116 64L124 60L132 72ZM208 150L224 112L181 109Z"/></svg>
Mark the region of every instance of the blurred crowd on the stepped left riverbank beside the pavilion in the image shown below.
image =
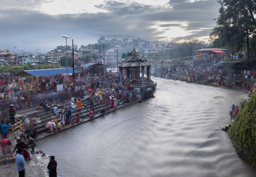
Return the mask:
<svg viewBox="0 0 256 177"><path fill-rule="evenodd" d="M80 75L83 76L83 75ZM55 83L56 78L47 78L43 79L40 85L48 84L53 81ZM9 80L11 80L9 78ZM21 82L25 82L26 79L22 80ZM117 99L120 99L123 102L134 102L136 100L141 101L142 94L140 91L137 91L134 89L132 85L129 83L126 83L127 81L123 82L123 85L119 84L119 78L117 74L109 74L109 77L107 79L91 79L91 78L81 78L78 77L76 80L76 85L73 85L70 81L67 85L67 87L64 88L63 92L55 92L54 88L52 87L52 91L48 91L47 89L43 92L22 92L19 90L16 90L15 92L12 92L12 94L8 94L6 96L6 104L11 104L9 109L6 108L7 106L4 106L1 104L2 108L2 114L0 114L1 119L7 119L7 117L10 118L10 125L13 125L15 123L14 116L16 114L16 110L21 110L24 108L30 108L32 106L36 106L36 110L46 110L46 111L52 111L55 115L59 115L61 122L52 121L46 124L46 127L49 128L50 132L54 132L53 129L58 130L61 128L65 128L65 126L68 126L70 124L73 124L74 122L79 122L79 117L71 116L71 110L82 110L82 101L80 98L87 99L89 101L89 104L91 105L91 110L89 112L89 116L94 116L94 110L93 105L95 103L103 103L108 104L110 103L111 109L117 108ZM20 82L20 83L21 83ZM31 81L32 82L32 81ZM13 82L14 85L16 81ZM17 83L16 83L17 84ZM58 81L56 81L56 84L59 84ZM37 85L37 84L36 84ZM107 89L108 88L108 89ZM40 88L41 89L41 88ZM19 102L18 97L23 97L22 102ZM17 99L18 98L18 99ZM75 98L78 98L76 100ZM73 99L71 104L66 105L63 104L63 101ZM8 100L8 102L7 102ZM16 101L17 100L17 101ZM5 108L5 110L4 110ZM106 107L105 110L101 111L105 114L106 111L109 109ZM9 113L9 115L8 115ZM22 117L24 120L24 127L26 129L26 132L28 133L35 133L36 132L36 126L34 125L36 123L36 120L33 120L33 118L28 118L26 115ZM53 124L53 122L55 122ZM9 122L8 122L9 123ZM7 124L3 125L1 129L7 126ZM9 124L8 124L9 126ZM5 132L5 130L3 131ZM6 134L3 133L2 136L6 137ZM35 138L35 134L32 134L33 138Z"/></svg>

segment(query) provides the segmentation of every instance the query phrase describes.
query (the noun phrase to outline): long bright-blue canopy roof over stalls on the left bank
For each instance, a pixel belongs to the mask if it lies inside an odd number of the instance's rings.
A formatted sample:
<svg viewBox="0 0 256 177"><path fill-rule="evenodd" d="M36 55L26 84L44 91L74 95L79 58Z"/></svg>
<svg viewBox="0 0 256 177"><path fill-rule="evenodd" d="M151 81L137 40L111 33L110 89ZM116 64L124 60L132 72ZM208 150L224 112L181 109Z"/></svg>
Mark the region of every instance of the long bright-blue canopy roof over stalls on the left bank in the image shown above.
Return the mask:
<svg viewBox="0 0 256 177"><path fill-rule="evenodd" d="M73 73L72 68L68 68L68 74L70 73ZM79 71L75 70L75 73L79 73ZM67 68L24 70L18 72L14 76L50 76L62 74L67 74Z"/></svg>

